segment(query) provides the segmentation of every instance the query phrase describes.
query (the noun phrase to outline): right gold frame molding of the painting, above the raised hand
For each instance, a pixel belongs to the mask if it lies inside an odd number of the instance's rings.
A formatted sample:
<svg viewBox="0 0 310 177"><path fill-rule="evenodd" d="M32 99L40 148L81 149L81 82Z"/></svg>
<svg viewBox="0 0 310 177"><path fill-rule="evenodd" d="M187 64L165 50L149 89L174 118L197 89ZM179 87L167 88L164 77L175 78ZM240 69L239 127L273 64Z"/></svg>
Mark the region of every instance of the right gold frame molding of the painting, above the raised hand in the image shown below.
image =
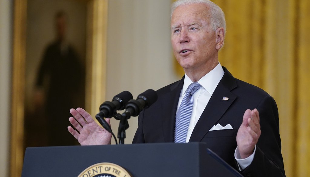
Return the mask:
<svg viewBox="0 0 310 177"><path fill-rule="evenodd" d="M93 117L105 100L107 23L108 0L91 1L87 9L85 105Z"/></svg>

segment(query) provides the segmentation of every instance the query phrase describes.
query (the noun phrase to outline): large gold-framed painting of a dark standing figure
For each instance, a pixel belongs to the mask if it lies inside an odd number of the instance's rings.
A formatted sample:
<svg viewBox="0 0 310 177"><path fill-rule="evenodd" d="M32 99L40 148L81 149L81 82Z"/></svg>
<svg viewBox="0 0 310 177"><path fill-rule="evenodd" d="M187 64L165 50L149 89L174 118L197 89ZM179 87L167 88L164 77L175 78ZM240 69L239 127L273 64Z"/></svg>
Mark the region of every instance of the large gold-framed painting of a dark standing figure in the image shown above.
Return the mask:
<svg viewBox="0 0 310 177"><path fill-rule="evenodd" d="M107 0L15 0L10 174L26 147L75 145L69 109L105 96Z"/></svg>

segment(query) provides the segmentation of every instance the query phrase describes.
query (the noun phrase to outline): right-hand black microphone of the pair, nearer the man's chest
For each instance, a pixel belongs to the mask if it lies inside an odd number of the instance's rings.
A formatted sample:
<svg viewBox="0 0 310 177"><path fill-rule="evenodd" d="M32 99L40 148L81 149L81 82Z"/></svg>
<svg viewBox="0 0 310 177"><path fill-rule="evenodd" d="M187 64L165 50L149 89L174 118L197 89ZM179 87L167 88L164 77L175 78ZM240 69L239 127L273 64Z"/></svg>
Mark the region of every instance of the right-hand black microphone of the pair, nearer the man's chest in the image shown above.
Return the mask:
<svg viewBox="0 0 310 177"><path fill-rule="evenodd" d="M126 111L122 115L126 116L127 119L130 116L138 116L143 109L150 107L156 100L157 93L152 89L148 89L139 94L136 100L129 100L126 104Z"/></svg>

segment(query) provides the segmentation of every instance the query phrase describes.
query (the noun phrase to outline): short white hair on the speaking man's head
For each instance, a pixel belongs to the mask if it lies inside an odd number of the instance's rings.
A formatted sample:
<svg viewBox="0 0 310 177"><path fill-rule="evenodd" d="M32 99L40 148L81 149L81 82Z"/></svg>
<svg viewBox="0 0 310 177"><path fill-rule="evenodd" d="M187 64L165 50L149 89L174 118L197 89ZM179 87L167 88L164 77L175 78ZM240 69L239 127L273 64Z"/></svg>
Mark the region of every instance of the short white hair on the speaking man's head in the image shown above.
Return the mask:
<svg viewBox="0 0 310 177"><path fill-rule="evenodd" d="M209 0L178 0L172 3L171 5L171 17L174 12L174 10L182 5L189 5L189 4L196 4L196 3L204 3L210 8L210 22L211 27L215 31L216 29L223 27L224 28L224 34L226 33L226 21L225 21L225 15L222 9L216 5L214 2L211 2Z"/></svg>

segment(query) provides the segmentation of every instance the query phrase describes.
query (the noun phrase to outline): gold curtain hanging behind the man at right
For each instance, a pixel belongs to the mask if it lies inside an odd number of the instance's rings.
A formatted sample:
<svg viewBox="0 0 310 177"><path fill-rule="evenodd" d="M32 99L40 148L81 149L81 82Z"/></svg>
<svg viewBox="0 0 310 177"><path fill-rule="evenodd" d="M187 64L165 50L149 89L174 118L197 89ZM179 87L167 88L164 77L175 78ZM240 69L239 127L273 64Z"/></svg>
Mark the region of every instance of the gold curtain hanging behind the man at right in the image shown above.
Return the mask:
<svg viewBox="0 0 310 177"><path fill-rule="evenodd" d="M308 176L310 1L212 1L223 9L227 23L221 65L276 100L286 176Z"/></svg>

